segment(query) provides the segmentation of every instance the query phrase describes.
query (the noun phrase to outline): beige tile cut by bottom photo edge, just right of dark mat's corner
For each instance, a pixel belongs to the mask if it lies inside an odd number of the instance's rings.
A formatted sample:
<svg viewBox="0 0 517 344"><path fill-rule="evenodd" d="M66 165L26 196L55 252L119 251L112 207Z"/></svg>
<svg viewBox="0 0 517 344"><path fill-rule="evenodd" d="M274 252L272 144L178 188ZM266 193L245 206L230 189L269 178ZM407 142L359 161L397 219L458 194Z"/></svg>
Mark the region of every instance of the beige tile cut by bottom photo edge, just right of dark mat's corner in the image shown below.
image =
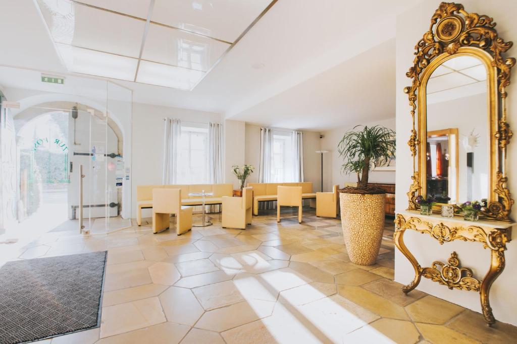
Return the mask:
<svg viewBox="0 0 517 344"><path fill-rule="evenodd" d="M164 322L145 329L103 338L98 344L176 344L190 330L189 326Z"/></svg>

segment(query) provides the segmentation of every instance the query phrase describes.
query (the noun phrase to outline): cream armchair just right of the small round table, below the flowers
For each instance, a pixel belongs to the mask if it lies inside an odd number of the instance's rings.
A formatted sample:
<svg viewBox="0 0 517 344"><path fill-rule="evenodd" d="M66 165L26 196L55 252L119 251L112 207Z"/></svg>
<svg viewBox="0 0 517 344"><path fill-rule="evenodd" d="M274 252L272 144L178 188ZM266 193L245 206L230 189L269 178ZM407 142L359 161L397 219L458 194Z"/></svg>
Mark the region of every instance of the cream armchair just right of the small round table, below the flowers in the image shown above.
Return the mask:
<svg viewBox="0 0 517 344"><path fill-rule="evenodd" d="M242 197L223 197L223 228L246 229L251 224L251 211L253 206L253 188L242 189Z"/></svg>

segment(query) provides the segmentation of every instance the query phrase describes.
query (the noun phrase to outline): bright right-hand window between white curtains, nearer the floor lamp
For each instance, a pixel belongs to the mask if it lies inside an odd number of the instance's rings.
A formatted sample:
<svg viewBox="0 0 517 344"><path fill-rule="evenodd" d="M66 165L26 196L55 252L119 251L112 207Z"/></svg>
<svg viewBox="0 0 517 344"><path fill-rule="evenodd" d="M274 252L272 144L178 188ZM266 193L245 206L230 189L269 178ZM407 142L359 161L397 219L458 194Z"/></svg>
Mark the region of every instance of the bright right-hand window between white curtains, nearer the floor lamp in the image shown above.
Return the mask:
<svg viewBox="0 0 517 344"><path fill-rule="evenodd" d="M291 133L273 133L273 180L288 183L293 180Z"/></svg>

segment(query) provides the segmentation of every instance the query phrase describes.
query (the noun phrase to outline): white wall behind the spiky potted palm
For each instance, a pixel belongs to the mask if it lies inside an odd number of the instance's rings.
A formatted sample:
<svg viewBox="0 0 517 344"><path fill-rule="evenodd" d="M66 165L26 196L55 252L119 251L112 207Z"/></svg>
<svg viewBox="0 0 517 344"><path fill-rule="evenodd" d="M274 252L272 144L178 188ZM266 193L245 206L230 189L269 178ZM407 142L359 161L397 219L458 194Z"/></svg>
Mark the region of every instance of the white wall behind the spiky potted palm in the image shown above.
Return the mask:
<svg viewBox="0 0 517 344"><path fill-rule="evenodd" d="M391 112L391 111L390 111ZM386 120L361 123L357 122L351 126L342 126L327 130L323 134L322 150L329 151L323 155L323 188L325 191L332 190L332 186L339 184L343 187L344 183L357 182L356 174L343 174L341 172L341 165L343 165L343 159L339 156L338 144L343 138L345 132L352 129L356 125L382 125L390 129L395 129L395 119L390 118ZM319 159L318 159L319 160ZM395 183L395 172L394 171L370 171L369 182L371 183Z"/></svg>

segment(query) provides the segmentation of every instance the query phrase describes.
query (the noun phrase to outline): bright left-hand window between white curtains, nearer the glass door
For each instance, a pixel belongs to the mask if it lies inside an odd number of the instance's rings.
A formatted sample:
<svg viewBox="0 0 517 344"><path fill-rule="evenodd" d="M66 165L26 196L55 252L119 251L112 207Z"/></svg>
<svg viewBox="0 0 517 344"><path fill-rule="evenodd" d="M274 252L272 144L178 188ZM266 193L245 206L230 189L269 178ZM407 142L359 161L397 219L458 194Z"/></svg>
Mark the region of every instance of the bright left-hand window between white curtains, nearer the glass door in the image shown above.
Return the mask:
<svg viewBox="0 0 517 344"><path fill-rule="evenodd" d="M181 126L178 184L207 183L207 128Z"/></svg>

